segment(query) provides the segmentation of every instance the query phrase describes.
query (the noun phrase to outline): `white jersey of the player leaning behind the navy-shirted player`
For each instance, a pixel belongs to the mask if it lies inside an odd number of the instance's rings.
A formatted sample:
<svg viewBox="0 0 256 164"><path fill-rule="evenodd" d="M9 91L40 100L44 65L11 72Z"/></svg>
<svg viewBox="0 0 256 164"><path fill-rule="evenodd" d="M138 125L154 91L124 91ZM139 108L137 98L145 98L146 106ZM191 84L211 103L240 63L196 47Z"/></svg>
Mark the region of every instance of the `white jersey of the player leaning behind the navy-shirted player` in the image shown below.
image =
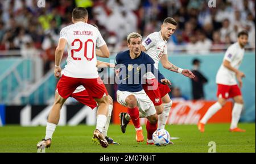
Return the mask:
<svg viewBox="0 0 256 164"><path fill-rule="evenodd" d="M163 54L167 54L167 41L163 40L161 32L153 32L148 35L142 45L146 48L146 53L155 61L155 68L158 69L159 60ZM146 75L147 79L155 78L151 72Z"/></svg>

